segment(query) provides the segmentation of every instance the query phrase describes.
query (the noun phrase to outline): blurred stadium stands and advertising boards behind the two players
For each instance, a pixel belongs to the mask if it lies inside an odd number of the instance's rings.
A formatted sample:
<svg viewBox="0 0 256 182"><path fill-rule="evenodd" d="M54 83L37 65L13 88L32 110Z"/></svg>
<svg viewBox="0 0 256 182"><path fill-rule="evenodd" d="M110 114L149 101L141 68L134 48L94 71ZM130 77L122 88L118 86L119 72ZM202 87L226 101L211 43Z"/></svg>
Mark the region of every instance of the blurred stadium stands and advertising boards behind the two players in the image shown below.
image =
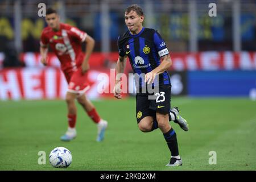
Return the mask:
<svg viewBox="0 0 256 182"><path fill-rule="evenodd" d="M40 2L0 3L0 100L64 97L67 85L58 85L56 79L51 79L60 75L59 69L54 69L59 67L56 56L49 56L46 69L40 64L39 39L46 26L44 18L38 16ZM212 2L217 5L216 17L208 15L208 5ZM247 97L250 92L255 94L255 1L44 3L59 10L63 22L81 28L96 40L90 59L92 84L97 78L94 73L108 73L109 68L114 68L118 35L127 30L124 11L131 3L138 3L146 16L144 26L158 30L171 51L174 95ZM22 68L5 69L13 67ZM130 65L126 72L131 72ZM60 77L62 80L63 76ZM88 93L90 98L101 97L92 92Z"/></svg>

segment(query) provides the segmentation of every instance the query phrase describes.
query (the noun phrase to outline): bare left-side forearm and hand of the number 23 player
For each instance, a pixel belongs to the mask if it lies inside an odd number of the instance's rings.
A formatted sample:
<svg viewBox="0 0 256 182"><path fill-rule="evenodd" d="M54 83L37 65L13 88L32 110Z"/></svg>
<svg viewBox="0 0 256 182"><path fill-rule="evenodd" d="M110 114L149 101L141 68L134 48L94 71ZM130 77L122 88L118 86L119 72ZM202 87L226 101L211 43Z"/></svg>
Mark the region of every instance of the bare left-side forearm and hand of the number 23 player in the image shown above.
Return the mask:
<svg viewBox="0 0 256 182"><path fill-rule="evenodd" d="M116 76L115 76L115 87L113 90L114 97L118 99L123 98L121 95L120 81L121 81L122 73L125 70L125 65L126 65L126 56L119 56L117 60L117 65L115 67Z"/></svg>

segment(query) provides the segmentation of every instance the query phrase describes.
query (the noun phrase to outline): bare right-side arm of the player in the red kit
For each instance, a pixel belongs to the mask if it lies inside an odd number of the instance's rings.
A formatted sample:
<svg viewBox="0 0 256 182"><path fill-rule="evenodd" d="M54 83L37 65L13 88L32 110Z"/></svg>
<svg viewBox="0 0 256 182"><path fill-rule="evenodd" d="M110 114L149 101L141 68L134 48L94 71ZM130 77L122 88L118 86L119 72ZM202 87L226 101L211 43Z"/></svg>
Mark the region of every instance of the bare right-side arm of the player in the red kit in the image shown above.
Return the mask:
<svg viewBox="0 0 256 182"><path fill-rule="evenodd" d="M85 43L86 43L86 49L85 49L86 55L85 55L84 61L82 62L82 73L85 73L90 68L89 58L93 52L95 40L91 36L86 35Z"/></svg>

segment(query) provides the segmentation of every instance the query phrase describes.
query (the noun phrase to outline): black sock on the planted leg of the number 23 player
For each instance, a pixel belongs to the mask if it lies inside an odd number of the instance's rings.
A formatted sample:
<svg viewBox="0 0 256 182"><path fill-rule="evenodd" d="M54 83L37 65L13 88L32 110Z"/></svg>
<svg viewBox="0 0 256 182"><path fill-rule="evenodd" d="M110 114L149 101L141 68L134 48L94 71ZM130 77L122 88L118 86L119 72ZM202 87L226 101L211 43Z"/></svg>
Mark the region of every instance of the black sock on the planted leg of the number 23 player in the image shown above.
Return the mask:
<svg viewBox="0 0 256 182"><path fill-rule="evenodd" d="M171 129L167 133L164 133L164 139L166 139L167 145L170 149L172 156L179 155L179 149L177 145L177 137L174 129Z"/></svg>

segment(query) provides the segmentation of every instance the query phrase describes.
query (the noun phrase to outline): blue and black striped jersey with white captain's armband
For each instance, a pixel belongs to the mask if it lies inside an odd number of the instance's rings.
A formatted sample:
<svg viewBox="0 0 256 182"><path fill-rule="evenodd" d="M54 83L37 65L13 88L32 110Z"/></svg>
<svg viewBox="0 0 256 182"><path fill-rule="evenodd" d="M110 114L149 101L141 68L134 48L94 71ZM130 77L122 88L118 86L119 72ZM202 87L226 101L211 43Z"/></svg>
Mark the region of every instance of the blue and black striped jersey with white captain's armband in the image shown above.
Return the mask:
<svg viewBox="0 0 256 182"><path fill-rule="evenodd" d="M168 49L164 40L158 33L151 28L142 28L141 32L137 35L131 35L127 31L122 36L118 37L118 52L119 56L128 56L133 72L141 75L151 72L153 69L160 65L160 57L168 55ZM159 81L159 83L157 83ZM155 81L153 86L171 85L170 75L167 71L159 74L159 80ZM137 83L139 87L146 84L144 80Z"/></svg>

